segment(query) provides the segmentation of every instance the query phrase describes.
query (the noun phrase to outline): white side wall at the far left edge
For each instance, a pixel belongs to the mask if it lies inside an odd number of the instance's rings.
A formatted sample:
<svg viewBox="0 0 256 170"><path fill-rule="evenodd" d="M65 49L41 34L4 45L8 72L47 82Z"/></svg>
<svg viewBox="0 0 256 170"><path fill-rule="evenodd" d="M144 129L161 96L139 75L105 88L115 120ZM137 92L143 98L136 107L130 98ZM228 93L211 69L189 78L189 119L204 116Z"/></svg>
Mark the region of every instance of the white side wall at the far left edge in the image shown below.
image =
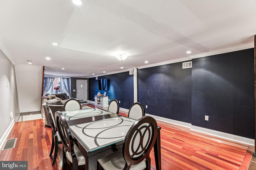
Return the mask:
<svg viewBox="0 0 256 170"><path fill-rule="evenodd" d="M8 85L7 85L8 84ZM4 136L11 121L20 116L14 65L0 50L0 137ZM13 117L10 117L12 111Z"/></svg>

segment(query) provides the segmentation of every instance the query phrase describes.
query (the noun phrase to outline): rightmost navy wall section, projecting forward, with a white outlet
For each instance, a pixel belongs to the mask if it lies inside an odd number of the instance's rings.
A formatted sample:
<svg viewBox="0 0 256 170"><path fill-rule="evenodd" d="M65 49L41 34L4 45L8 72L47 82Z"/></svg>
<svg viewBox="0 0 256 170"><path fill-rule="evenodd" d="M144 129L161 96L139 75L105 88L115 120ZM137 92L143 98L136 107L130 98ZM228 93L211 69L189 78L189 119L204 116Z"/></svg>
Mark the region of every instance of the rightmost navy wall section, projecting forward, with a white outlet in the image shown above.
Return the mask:
<svg viewBox="0 0 256 170"><path fill-rule="evenodd" d="M254 139L254 49L192 60L192 125Z"/></svg>

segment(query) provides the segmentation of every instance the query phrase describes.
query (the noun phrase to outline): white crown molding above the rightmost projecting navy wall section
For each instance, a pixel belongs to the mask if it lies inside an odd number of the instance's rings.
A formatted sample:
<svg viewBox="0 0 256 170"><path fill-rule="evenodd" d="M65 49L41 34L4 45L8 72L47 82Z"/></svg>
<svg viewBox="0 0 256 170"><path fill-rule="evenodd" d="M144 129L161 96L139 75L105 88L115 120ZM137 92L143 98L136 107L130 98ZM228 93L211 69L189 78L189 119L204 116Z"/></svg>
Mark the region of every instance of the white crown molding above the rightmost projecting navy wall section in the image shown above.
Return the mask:
<svg viewBox="0 0 256 170"><path fill-rule="evenodd" d="M254 48L254 43L248 43L248 44L243 44L243 45L230 47L230 48L226 48L226 49L209 51L209 52L206 52L206 53L200 53L200 54L196 54L196 55L189 55L188 57L190 57L190 59L197 59L197 58L201 58L201 57L207 57L207 56L212 56L212 55L230 53L230 52L244 50L244 49L250 49L250 48Z"/></svg>

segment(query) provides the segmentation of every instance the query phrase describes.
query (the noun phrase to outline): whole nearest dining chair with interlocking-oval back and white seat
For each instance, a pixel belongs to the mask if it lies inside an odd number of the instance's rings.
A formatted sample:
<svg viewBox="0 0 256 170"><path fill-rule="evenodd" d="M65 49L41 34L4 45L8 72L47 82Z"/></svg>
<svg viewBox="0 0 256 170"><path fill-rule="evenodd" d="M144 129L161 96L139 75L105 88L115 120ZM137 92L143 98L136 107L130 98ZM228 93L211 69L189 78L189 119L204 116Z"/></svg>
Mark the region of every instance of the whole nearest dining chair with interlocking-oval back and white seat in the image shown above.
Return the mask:
<svg viewBox="0 0 256 170"><path fill-rule="evenodd" d="M98 159L104 170L150 170L150 151L157 137L156 120L143 116L134 122L126 134L122 150Z"/></svg>

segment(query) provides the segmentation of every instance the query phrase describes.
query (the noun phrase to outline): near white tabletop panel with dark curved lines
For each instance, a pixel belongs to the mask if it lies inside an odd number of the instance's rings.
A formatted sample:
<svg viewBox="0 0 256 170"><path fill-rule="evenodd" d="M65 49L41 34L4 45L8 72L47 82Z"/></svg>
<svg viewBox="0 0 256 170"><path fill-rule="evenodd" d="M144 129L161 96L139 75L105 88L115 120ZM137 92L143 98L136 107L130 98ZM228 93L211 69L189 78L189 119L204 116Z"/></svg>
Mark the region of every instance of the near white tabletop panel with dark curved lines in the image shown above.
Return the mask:
<svg viewBox="0 0 256 170"><path fill-rule="evenodd" d="M123 141L134 121L134 119L120 116L72 125L70 130L92 151Z"/></svg>

